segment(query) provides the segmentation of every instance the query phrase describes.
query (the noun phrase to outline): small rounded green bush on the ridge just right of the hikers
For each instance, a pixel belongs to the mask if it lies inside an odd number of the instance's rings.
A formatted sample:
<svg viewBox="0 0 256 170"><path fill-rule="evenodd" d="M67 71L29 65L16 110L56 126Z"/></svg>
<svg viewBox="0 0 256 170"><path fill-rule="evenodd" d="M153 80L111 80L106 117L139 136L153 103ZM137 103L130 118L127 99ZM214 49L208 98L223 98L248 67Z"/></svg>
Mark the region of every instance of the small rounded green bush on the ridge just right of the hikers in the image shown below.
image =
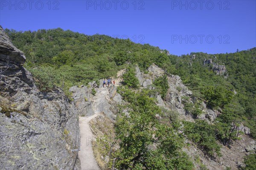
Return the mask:
<svg viewBox="0 0 256 170"><path fill-rule="evenodd" d="M135 76L135 69L129 67L125 74L123 74L124 85L127 85L129 88L138 88L139 80Z"/></svg>

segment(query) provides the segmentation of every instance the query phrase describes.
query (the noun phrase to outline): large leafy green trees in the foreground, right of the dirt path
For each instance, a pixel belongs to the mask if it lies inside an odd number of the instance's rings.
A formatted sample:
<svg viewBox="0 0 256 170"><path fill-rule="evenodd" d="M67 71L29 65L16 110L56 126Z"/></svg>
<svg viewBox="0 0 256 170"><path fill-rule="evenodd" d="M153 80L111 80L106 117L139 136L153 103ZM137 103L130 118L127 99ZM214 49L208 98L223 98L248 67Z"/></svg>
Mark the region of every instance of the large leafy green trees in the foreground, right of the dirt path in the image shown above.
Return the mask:
<svg viewBox="0 0 256 170"><path fill-rule="evenodd" d="M180 151L183 139L172 127L161 124L155 117L161 109L154 99L144 94L119 89L130 102L129 114L120 112L116 133L120 141L116 167L119 169L191 169L193 164ZM131 95L127 95L131 94ZM125 96L131 96L126 98ZM155 146L157 149L150 149Z"/></svg>

